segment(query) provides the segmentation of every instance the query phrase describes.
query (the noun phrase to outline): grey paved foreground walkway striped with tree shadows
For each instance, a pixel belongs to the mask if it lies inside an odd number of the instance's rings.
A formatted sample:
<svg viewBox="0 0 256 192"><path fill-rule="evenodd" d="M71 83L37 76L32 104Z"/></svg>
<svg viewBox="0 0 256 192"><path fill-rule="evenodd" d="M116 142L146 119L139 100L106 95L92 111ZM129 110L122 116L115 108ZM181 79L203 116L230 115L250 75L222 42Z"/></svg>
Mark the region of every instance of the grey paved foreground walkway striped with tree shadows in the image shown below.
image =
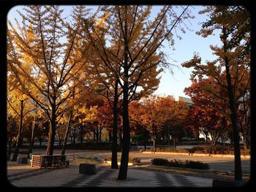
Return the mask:
<svg viewBox="0 0 256 192"><path fill-rule="evenodd" d="M17 187L211 187L212 179L181 174L128 169L127 180L117 181L118 170L97 164L97 174L79 174L79 164L66 169L8 166L7 178Z"/></svg>

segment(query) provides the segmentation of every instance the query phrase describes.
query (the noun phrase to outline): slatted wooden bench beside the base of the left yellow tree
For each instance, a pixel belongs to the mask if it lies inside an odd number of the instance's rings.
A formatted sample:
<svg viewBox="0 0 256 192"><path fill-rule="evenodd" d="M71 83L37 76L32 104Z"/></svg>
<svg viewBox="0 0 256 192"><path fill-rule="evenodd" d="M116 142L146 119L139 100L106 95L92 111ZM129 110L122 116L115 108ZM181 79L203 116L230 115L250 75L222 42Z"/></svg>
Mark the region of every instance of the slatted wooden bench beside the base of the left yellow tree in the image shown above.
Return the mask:
<svg viewBox="0 0 256 192"><path fill-rule="evenodd" d="M48 167L66 168L69 167L69 161L66 161L66 155L32 155L31 166L37 166L40 169Z"/></svg>

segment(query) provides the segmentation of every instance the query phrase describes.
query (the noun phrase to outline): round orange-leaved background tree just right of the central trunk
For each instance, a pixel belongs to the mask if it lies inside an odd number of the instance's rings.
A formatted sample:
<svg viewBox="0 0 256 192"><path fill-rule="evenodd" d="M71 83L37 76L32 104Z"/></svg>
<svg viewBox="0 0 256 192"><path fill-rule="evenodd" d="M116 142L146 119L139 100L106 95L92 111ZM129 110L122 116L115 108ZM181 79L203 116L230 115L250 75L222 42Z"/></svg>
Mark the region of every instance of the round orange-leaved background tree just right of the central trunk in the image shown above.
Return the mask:
<svg viewBox="0 0 256 192"><path fill-rule="evenodd" d="M136 111L132 109L134 105L137 106ZM156 151L157 137L166 126L181 126L181 119L186 117L186 110L182 110L181 107L184 107L184 104L178 104L170 96L151 96L144 99L141 104L135 103L130 107L132 122L146 128L153 141L153 151Z"/></svg>

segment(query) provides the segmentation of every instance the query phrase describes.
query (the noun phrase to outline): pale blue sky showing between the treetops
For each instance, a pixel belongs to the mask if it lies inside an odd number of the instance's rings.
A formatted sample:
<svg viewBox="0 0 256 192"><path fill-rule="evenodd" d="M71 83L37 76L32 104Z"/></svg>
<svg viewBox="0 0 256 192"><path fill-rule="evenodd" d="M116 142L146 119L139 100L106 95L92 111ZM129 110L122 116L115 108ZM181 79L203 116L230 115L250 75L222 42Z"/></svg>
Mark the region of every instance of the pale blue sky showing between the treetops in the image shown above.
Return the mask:
<svg viewBox="0 0 256 192"><path fill-rule="evenodd" d="M20 16L16 12L17 9L21 10L22 7L12 7L7 15L7 20L11 20L12 23L14 23L14 18L20 20ZM219 44L219 35L203 38L195 34L196 31L200 30L200 23L206 21L208 17L198 14L203 9L202 6L192 6L189 9L191 9L192 15L195 15L195 19L190 20L191 24L187 23L191 31L186 30L186 34L179 33L182 39L175 38L175 50L173 50L173 47L165 46L164 51L168 54L168 62L175 66L173 67L173 74L165 70L159 75L161 77L159 88L154 92L159 96L188 97L184 93L184 88L191 85L189 78L192 69L183 68L181 64L192 59L194 53L199 53L203 62L212 61L216 58L212 55L210 45ZM157 10L159 10L159 7L153 6L152 14L156 13ZM64 15L69 15L69 12L71 13L71 7L65 6Z"/></svg>

